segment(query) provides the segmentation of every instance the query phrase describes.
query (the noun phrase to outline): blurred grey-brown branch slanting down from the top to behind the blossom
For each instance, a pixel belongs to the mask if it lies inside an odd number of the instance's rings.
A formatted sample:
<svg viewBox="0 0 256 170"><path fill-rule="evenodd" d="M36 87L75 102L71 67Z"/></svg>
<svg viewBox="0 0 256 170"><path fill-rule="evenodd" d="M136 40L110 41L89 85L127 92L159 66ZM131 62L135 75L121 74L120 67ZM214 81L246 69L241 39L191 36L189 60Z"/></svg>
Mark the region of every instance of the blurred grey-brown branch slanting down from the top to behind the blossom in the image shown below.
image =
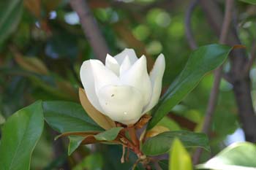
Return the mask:
<svg viewBox="0 0 256 170"><path fill-rule="evenodd" d="M94 51L95 57L100 61L105 61L105 56L109 53L108 46L86 0L70 0L70 5L78 13L83 32Z"/></svg>

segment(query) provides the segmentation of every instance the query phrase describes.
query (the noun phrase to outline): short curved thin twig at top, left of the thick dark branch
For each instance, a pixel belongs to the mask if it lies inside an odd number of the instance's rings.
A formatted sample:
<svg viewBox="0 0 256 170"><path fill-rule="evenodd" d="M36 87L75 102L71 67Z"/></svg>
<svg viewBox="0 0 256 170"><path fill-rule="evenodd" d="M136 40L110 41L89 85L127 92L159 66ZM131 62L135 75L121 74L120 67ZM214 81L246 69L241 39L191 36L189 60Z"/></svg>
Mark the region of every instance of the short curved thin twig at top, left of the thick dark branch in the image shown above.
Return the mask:
<svg viewBox="0 0 256 170"><path fill-rule="evenodd" d="M194 36L192 34L192 28L191 28L191 18L192 18L192 12L195 9L195 7L198 4L198 0L194 0L189 4L189 7L187 9L186 15L185 15L185 34L187 37L187 41L189 42L189 47L192 50L195 50L197 48L197 43L195 42Z"/></svg>

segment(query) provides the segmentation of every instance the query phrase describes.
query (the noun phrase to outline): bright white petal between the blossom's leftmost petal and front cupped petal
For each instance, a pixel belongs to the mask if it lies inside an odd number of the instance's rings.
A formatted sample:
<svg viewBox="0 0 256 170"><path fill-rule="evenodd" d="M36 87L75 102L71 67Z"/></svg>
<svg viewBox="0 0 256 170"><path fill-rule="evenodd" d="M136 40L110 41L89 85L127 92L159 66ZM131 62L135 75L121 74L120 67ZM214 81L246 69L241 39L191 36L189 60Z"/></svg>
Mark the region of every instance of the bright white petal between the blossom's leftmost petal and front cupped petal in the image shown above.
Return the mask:
<svg viewBox="0 0 256 170"><path fill-rule="evenodd" d="M98 95L100 88L106 85L118 85L119 79L114 72L105 67L102 63L91 61L91 69L94 76L94 88Z"/></svg>

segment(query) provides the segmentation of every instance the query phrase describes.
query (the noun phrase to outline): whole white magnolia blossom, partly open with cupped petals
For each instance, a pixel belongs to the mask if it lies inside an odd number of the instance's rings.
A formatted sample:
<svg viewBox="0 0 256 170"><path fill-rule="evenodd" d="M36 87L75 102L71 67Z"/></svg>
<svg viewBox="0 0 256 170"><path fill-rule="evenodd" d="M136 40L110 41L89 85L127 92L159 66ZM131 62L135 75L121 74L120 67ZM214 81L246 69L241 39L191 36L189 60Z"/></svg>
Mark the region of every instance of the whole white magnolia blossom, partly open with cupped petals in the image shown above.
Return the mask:
<svg viewBox="0 0 256 170"><path fill-rule="evenodd" d="M86 96L102 114L117 122L131 125L158 102L165 72L165 57L160 54L148 75L146 57L125 49L105 65L99 60L84 61L80 78Z"/></svg>

